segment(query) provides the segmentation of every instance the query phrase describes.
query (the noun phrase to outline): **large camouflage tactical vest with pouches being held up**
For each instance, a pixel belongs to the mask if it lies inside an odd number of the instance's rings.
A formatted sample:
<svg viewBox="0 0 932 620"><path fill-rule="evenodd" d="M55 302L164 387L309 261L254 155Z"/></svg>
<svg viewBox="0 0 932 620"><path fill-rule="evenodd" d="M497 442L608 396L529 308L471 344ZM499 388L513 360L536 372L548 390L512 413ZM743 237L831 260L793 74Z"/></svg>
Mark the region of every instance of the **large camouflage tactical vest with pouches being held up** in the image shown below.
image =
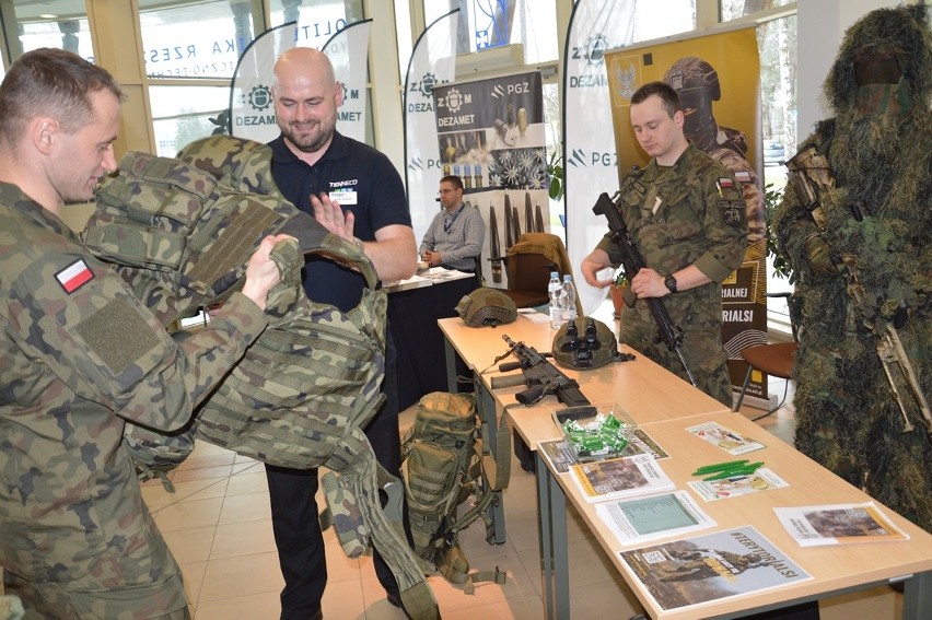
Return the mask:
<svg viewBox="0 0 932 620"><path fill-rule="evenodd" d="M298 239L279 244L272 253L282 279L269 293L269 327L198 410L197 436L264 463L298 469L324 466L338 472L348 492L331 510L338 518L342 513L361 515L398 581L408 612L439 617L423 572L398 536L400 511L396 526L381 508L378 480L391 476L378 471L360 430L384 398L380 384L387 297L372 262L354 244L283 199L271 184L271 151L264 144L218 136L189 144L177 160L141 153L125 159L120 175L102 188L106 197L98 201L86 236L117 239L95 247L120 265L124 278L135 291L144 292L163 320L226 299L242 285L244 265L264 236L281 232ZM203 175L214 185L198 210L194 202L210 187ZM171 236L161 244L133 241L135 251L154 251L158 260L149 254L127 260L119 235L109 230L129 227L127 220L143 222L153 237L180 231L184 243ZM359 269L368 289L356 308L342 313L307 299L301 285L307 254ZM147 437L136 445L148 449L156 443ZM176 456L186 456L175 437L163 443L168 453L179 448ZM158 465L166 454L137 456Z"/></svg>

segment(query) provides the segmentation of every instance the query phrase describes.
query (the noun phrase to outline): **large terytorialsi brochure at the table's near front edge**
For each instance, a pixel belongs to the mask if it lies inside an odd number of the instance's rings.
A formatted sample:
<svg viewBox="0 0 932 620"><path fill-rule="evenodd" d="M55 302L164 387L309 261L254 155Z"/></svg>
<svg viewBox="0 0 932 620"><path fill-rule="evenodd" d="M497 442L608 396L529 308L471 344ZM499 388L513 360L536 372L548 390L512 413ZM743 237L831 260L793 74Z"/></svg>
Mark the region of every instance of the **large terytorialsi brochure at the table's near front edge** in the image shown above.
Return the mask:
<svg viewBox="0 0 932 620"><path fill-rule="evenodd" d="M778 588L812 576L753 526L620 551L663 609Z"/></svg>

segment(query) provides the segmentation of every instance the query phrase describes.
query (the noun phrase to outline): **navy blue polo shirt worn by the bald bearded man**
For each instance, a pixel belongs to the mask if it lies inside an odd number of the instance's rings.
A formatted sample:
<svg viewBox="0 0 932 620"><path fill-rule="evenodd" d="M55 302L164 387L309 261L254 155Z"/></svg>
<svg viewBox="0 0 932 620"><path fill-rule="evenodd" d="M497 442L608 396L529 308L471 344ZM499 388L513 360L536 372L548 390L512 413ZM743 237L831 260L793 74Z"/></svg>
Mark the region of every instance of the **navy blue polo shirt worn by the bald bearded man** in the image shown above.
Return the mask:
<svg viewBox="0 0 932 620"><path fill-rule="evenodd" d="M356 217L353 234L375 241L375 231L392 224L411 225L405 185L392 162L352 138L334 132L324 156L313 166L299 160L279 136L272 150L272 178L282 195L302 211L314 215L311 195L322 191ZM359 304L365 280L358 272L326 258L310 257L304 265L304 290L315 302L348 312Z"/></svg>

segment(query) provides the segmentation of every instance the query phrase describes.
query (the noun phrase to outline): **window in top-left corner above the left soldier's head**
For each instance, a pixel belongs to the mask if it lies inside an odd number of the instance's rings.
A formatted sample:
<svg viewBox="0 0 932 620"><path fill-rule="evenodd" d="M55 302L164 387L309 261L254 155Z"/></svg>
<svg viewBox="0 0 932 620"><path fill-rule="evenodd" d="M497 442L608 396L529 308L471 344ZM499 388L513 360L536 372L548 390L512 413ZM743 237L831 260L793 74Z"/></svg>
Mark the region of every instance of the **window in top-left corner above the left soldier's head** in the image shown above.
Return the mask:
<svg viewBox="0 0 932 620"><path fill-rule="evenodd" d="M7 42L11 60L40 47L67 49L94 60L84 0L62 0L54 4L15 0L0 5L0 13L3 21L15 24L7 32L19 32L18 39Z"/></svg>

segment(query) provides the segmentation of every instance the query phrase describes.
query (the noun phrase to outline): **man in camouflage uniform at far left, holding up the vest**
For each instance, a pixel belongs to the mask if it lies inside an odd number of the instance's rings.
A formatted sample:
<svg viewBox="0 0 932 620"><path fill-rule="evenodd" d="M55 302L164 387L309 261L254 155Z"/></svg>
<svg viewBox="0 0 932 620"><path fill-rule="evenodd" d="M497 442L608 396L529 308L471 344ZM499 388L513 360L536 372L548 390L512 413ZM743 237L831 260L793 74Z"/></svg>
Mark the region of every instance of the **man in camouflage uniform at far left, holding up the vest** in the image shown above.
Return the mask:
<svg viewBox="0 0 932 620"><path fill-rule="evenodd" d="M246 283L176 342L59 219L116 167L121 92L38 49L0 85L0 566L26 618L187 618L182 573L145 508L125 420L184 426L265 329L266 237Z"/></svg>

